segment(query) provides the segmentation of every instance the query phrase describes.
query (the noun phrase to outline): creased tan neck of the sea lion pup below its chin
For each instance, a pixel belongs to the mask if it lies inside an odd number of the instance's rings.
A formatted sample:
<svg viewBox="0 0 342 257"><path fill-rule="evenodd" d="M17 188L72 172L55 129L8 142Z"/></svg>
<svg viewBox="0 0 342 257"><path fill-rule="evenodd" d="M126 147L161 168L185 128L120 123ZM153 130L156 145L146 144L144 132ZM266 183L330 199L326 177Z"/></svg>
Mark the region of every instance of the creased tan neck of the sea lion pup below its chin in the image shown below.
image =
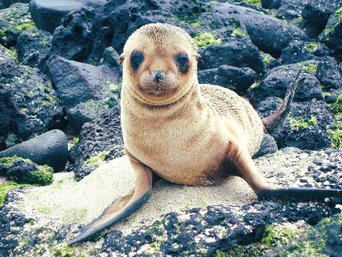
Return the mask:
<svg viewBox="0 0 342 257"><path fill-rule="evenodd" d="M200 89L197 78L194 79L189 90L172 102L165 104L153 104L141 99L128 86L122 90L122 109L139 118L168 118L179 112L185 111L190 105L196 104L200 99Z"/></svg>

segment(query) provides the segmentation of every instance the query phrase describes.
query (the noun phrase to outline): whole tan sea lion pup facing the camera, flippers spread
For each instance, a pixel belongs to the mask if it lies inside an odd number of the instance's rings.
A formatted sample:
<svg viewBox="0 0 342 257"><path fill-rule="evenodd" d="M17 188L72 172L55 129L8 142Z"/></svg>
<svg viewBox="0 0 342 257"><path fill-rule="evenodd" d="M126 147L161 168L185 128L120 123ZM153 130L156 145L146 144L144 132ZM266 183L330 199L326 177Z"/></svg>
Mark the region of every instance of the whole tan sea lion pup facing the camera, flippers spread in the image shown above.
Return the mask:
<svg viewBox="0 0 342 257"><path fill-rule="evenodd" d="M184 30L145 25L129 37L121 58L121 122L136 185L85 226L71 244L129 216L148 200L158 178L212 185L238 175L259 198L341 197L341 191L273 189L266 182L251 158L264 135L262 120L233 91L198 84L197 49ZM279 117L266 119L269 127L272 120Z"/></svg>

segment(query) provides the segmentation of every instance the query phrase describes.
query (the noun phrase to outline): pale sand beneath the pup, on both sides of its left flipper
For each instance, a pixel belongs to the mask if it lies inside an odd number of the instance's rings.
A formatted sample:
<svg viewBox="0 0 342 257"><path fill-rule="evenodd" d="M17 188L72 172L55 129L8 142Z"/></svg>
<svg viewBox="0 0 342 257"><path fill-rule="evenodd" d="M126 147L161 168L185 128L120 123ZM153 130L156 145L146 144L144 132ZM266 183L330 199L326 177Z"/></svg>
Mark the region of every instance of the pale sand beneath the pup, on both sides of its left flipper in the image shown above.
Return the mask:
<svg viewBox="0 0 342 257"><path fill-rule="evenodd" d="M124 156L103 163L80 182L75 182L71 173L57 173L52 185L31 188L23 193L23 200L17 207L27 216L47 223L85 224L100 215L116 197L128 193L134 181L134 173ZM253 198L255 195L247 183L237 177L207 187L160 181L147 204L112 228L125 233L172 211L217 204L243 205Z"/></svg>

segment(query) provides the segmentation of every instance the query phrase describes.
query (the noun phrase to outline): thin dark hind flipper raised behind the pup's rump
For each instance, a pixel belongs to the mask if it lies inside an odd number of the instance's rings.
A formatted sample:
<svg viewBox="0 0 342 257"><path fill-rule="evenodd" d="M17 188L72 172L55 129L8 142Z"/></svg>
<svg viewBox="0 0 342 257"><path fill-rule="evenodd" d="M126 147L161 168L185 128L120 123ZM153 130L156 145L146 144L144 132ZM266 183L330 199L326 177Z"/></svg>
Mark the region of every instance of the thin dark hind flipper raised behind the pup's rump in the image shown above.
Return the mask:
<svg viewBox="0 0 342 257"><path fill-rule="evenodd" d="M300 87L303 84L304 79L305 79L305 78L299 79L299 76L302 72L302 69L303 69L303 67L297 73L296 79L292 83L292 85L290 85L287 88L284 101L281 103L279 109L275 113L271 114L270 116L267 116L267 117L262 119L262 123L264 124L265 130L267 133L270 134L274 130L276 130L276 128L279 126L279 124L281 124L282 121L284 121L284 119L290 113L290 111L291 111L291 105L290 104L293 101L296 90L298 87Z"/></svg>

